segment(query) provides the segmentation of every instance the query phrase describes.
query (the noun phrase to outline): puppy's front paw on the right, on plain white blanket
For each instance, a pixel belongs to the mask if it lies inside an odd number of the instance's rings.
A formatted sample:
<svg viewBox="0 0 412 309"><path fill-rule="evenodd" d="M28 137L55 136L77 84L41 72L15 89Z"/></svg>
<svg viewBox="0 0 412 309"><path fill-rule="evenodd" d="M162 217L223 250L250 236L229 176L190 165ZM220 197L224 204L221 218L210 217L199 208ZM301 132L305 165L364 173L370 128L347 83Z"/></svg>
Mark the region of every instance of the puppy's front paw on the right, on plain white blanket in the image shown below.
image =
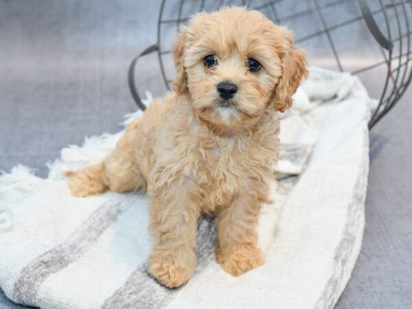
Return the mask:
<svg viewBox="0 0 412 309"><path fill-rule="evenodd" d="M246 244L227 251L216 248L216 262L231 275L238 276L264 264L264 258L260 249Z"/></svg>

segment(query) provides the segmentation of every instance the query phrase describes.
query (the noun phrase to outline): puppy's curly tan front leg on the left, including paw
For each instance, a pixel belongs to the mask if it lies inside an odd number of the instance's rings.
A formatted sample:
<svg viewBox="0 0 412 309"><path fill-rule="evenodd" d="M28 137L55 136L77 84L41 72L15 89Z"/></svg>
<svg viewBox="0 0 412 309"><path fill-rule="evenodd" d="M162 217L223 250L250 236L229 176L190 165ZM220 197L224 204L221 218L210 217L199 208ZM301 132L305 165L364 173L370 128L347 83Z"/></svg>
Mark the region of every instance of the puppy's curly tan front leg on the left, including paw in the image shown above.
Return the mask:
<svg viewBox="0 0 412 309"><path fill-rule="evenodd" d="M200 214L196 185L164 185L152 194L150 231L155 238L149 270L170 288L181 286L196 266L196 231Z"/></svg>

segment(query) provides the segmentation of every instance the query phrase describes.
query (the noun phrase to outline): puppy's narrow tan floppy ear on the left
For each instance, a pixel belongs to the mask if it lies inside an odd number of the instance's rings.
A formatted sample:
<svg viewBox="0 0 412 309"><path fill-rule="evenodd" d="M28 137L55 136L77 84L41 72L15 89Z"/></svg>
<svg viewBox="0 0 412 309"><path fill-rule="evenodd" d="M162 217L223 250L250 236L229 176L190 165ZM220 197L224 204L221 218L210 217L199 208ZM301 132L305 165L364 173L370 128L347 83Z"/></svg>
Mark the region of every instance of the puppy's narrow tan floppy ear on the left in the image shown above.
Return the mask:
<svg viewBox="0 0 412 309"><path fill-rule="evenodd" d="M176 34L174 39L174 47L172 49L174 65L176 65L177 75L173 78L172 83L174 90L178 95L187 94L187 77L185 66L183 65L183 56L185 54L185 41L186 41L187 28L181 27L181 30Z"/></svg>

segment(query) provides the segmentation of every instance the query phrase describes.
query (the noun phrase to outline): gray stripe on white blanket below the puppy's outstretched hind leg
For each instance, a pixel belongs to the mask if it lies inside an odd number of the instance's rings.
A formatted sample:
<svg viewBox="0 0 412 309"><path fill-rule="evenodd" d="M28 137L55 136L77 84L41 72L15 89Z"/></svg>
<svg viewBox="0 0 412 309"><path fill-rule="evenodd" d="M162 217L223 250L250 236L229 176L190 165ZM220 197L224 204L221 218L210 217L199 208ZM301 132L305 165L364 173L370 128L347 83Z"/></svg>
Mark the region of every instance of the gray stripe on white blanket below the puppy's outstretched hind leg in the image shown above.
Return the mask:
<svg viewBox="0 0 412 309"><path fill-rule="evenodd" d="M45 279L76 261L94 244L102 233L112 225L121 209L118 203L104 203L84 220L82 224L54 249L46 251L25 266L14 284L13 300L29 306L36 306L36 295Z"/></svg>

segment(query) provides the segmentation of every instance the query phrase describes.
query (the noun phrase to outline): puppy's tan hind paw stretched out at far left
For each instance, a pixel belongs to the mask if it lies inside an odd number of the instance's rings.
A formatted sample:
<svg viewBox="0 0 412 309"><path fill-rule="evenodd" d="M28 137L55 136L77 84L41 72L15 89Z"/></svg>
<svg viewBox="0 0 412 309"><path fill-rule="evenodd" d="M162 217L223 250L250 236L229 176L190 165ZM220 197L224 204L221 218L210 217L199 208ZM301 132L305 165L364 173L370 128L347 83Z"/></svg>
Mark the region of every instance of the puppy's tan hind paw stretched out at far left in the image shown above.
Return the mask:
<svg viewBox="0 0 412 309"><path fill-rule="evenodd" d="M104 181L104 163L87 166L76 172L65 172L69 177L69 189L73 196L102 194L108 190Z"/></svg>

